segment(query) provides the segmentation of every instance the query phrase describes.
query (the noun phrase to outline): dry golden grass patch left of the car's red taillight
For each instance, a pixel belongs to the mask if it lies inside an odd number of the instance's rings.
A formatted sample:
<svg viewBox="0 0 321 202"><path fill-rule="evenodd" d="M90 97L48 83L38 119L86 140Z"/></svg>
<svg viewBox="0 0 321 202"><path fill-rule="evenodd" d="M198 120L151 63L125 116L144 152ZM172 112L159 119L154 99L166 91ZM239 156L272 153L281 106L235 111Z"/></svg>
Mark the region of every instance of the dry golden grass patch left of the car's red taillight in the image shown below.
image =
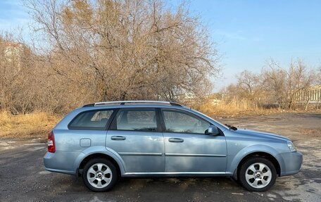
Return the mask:
<svg viewBox="0 0 321 202"><path fill-rule="evenodd" d="M0 139L46 139L60 118L43 112L11 115L0 112Z"/></svg>

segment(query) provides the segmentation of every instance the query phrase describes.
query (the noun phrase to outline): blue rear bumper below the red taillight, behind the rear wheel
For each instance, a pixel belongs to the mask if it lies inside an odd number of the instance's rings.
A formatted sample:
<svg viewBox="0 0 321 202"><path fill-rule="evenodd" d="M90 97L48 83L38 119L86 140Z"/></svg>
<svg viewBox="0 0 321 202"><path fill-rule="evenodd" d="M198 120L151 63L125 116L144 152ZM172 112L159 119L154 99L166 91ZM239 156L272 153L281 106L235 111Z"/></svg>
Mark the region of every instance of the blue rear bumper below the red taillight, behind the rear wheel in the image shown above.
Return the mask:
<svg viewBox="0 0 321 202"><path fill-rule="evenodd" d="M55 153L47 152L44 155L44 168L51 172L60 172L69 175L75 175L76 171L73 170L72 156L77 156L77 153L72 153L70 156L65 155L65 152L56 151Z"/></svg>

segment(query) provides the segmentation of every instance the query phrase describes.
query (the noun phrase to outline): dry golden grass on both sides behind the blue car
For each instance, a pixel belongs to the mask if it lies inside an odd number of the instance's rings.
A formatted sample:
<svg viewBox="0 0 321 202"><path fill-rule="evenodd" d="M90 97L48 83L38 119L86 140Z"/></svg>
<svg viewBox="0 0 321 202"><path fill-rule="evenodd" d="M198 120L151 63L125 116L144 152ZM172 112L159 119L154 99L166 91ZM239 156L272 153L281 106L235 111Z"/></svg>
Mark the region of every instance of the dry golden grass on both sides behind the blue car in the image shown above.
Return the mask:
<svg viewBox="0 0 321 202"><path fill-rule="evenodd" d="M270 115L275 113L291 113L306 111L284 111L282 109L253 107L247 101L231 101L229 103L206 102L192 108L213 118L238 117L244 115ZM320 112L313 110L313 113ZM34 112L26 115L11 115L6 111L0 111L0 140L1 139L47 139L50 130L61 119L61 116L50 115L44 112ZM303 131L303 134L315 131Z"/></svg>

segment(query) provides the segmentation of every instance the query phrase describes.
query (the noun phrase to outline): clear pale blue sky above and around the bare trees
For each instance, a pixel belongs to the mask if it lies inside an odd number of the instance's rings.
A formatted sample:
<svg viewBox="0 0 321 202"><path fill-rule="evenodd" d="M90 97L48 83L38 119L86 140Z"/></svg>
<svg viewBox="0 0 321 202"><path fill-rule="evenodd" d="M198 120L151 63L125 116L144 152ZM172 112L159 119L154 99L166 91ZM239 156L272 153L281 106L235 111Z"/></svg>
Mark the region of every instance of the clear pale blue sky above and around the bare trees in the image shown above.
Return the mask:
<svg viewBox="0 0 321 202"><path fill-rule="evenodd" d="M215 91L235 82L243 70L260 72L269 58L284 67L292 58L302 58L311 68L321 66L320 0L189 2L222 53L222 78L213 79ZM30 21L20 1L0 0L0 30L28 29Z"/></svg>

